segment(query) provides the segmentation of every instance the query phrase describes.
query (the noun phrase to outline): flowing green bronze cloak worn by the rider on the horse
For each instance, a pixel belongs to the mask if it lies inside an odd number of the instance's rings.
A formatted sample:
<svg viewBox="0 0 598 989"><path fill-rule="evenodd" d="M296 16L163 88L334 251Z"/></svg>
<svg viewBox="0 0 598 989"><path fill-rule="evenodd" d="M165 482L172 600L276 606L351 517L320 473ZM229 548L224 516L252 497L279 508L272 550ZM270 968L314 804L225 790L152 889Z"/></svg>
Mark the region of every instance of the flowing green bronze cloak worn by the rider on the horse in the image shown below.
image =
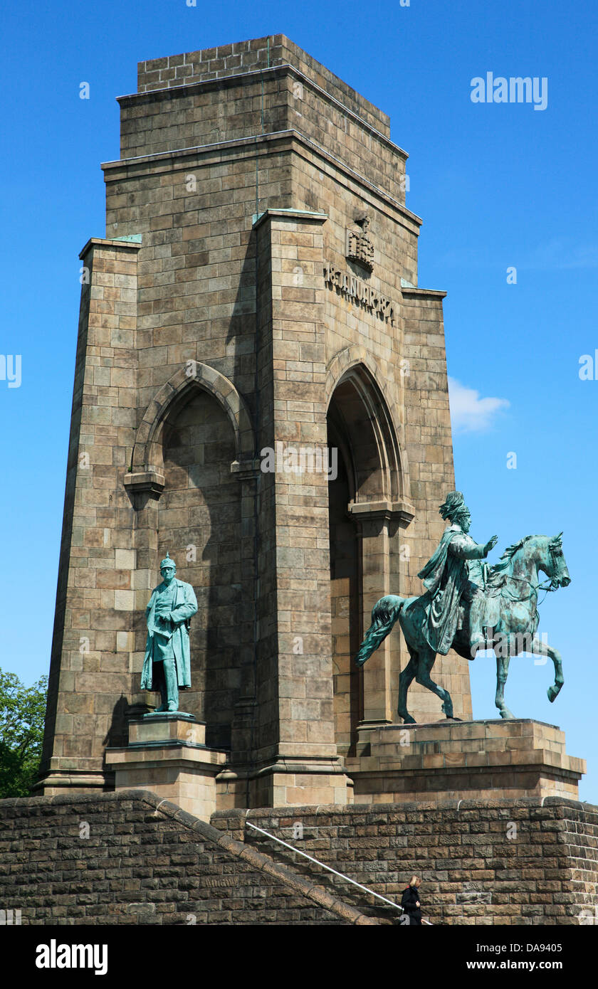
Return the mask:
<svg viewBox="0 0 598 989"><path fill-rule="evenodd" d="M481 583L479 564L471 569L468 560L482 558L484 547L466 535L459 525L445 529L434 556L418 577L427 588L419 600L426 618L423 627L426 641L435 653L446 656L458 625L458 606L469 582Z"/></svg>

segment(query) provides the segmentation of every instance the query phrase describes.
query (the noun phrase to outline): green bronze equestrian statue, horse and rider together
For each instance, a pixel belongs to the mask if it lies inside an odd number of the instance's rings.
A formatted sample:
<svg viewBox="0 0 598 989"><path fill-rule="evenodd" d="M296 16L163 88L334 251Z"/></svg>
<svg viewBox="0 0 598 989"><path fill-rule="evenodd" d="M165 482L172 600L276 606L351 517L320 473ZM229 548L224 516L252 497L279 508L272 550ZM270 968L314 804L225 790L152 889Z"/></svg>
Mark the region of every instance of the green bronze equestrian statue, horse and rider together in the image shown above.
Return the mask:
<svg viewBox="0 0 598 989"><path fill-rule="evenodd" d="M407 691L416 682L433 690L443 701L443 711L452 718L448 690L432 679L437 654L452 648L464 659L475 659L480 649L493 649L497 682L495 703L501 717L512 718L505 705L504 687L511 656L531 652L548 656L554 665L554 683L548 687L553 701L560 690L560 654L536 638L540 616L538 592L570 584L562 554L562 533L557 536L526 536L509 546L500 563L489 569L481 564L496 545L497 537L478 544L468 535L471 516L463 495L451 492L440 508L449 526L434 556L420 571L426 592L419 597L387 594L371 612L371 625L355 658L358 667L378 648L398 620L405 636L410 660L399 676L398 713L406 724L415 719L407 710ZM549 584L540 583L539 572Z"/></svg>

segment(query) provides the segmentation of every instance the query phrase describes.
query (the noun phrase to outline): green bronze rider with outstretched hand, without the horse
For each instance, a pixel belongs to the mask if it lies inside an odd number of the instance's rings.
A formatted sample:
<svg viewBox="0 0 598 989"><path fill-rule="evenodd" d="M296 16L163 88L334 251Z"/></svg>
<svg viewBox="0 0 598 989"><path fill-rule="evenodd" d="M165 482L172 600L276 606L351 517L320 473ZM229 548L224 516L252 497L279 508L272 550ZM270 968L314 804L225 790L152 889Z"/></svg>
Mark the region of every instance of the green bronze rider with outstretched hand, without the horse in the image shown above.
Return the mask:
<svg viewBox="0 0 598 989"><path fill-rule="evenodd" d="M426 613L422 631L435 653L446 656L458 627L459 603L463 603L469 612L469 645L474 659L477 650L486 645L481 627L484 579L480 560L496 546L498 536L482 545L467 535L471 515L460 492L447 495L440 513L450 524L436 553L418 574L427 588L419 599Z"/></svg>

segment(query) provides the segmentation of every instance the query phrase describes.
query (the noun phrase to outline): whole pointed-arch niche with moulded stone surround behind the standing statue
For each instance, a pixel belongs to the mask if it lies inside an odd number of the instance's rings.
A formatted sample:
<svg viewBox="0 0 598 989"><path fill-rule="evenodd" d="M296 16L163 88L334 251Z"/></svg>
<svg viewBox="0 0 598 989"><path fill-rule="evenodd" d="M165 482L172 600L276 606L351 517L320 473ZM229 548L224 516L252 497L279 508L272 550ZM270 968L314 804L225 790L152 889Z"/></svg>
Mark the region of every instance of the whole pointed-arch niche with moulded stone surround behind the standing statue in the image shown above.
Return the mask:
<svg viewBox="0 0 598 989"><path fill-rule="evenodd" d="M166 552L198 603L191 619L191 688L181 706L206 723L206 744L228 750L241 694L251 622L244 616L247 546L238 468L253 456L243 398L200 362L183 366L156 393L138 428L125 485L136 507L138 567L149 588ZM249 582L250 583L250 582ZM247 588L246 588L247 591ZM140 642L145 616L139 616Z"/></svg>

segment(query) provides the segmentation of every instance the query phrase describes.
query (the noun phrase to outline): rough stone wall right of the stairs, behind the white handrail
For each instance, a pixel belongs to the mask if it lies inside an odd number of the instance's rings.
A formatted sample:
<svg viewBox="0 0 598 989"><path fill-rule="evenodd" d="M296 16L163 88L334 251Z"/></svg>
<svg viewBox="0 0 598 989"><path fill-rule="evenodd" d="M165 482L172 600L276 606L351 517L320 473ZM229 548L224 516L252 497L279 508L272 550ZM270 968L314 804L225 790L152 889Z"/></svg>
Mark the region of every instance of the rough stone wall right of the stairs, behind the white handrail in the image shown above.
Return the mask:
<svg viewBox="0 0 598 989"><path fill-rule="evenodd" d="M461 800L375 808L293 807L220 812L212 824L280 862L306 868L247 825L400 903L414 873L424 916L448 925L577 925L598 906L598 808L574 800ZM301 825L303 838L295 837ZM307 863L331 890L341 879ZM595 923L595 920L594 920Z"/></svg>

